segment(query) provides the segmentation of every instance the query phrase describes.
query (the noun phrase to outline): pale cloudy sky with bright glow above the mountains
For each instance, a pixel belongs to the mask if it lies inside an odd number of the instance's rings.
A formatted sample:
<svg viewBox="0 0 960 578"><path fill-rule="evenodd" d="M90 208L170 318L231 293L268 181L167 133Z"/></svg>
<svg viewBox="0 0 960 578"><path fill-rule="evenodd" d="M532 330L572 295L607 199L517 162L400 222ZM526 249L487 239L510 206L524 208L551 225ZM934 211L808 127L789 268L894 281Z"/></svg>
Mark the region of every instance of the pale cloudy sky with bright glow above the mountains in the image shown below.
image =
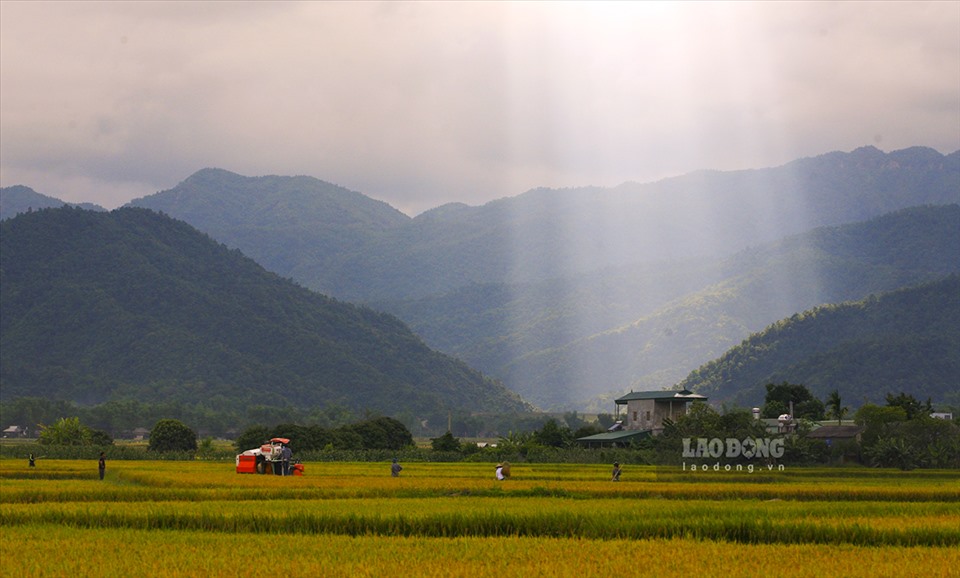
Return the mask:
<svg viewBox="0 0 960 578"><path fill-rule="evenodd" d="M536 187L960 149L960 2L0 0L0 186L207 167L414 216Z"/></svg>

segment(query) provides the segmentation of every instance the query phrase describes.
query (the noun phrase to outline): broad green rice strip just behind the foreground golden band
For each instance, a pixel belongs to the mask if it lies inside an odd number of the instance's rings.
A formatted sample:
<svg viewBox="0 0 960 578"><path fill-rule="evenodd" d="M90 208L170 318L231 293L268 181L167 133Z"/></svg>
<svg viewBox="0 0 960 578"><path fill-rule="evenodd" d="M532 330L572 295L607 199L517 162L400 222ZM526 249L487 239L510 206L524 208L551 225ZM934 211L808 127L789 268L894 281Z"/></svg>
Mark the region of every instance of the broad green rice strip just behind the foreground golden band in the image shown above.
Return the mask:
<svg viewBox="0 0 960 578"><path fill-rule="evenodd" d="M742 543L960 546L960 506L557 498L2 504L0 524L347 535L694 537Z"/></svg>

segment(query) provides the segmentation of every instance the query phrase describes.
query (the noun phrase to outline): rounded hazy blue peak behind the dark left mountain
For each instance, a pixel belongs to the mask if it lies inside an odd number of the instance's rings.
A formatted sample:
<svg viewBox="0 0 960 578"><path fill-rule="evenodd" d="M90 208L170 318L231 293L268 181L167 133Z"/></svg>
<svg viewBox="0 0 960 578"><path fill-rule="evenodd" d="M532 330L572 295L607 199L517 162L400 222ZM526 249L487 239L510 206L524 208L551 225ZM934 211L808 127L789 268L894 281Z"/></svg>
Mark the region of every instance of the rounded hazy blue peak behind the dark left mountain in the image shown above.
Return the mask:
<svg viewBox="0 0 960 578"><path fill-rule="evenodd" d="M131 201L186 221L284 277L330 295L323 274L383 231L409 224L390 205L312 177L244 177L203 169L176 187Z"/></svg>

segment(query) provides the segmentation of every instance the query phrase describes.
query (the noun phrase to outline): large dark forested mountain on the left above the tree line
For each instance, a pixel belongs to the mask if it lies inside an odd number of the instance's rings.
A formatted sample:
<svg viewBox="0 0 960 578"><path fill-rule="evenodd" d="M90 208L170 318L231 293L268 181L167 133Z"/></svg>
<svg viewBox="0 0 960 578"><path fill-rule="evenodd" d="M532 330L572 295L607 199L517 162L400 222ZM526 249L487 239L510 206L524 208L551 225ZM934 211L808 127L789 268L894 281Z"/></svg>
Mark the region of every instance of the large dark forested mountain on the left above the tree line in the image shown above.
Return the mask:
<svg viewBox="0 0 960 578"><path fill-rule="evenodd" d="M0 393L391 415L526 406L397 318L281 279L144 209L0 223Z"/></svg>

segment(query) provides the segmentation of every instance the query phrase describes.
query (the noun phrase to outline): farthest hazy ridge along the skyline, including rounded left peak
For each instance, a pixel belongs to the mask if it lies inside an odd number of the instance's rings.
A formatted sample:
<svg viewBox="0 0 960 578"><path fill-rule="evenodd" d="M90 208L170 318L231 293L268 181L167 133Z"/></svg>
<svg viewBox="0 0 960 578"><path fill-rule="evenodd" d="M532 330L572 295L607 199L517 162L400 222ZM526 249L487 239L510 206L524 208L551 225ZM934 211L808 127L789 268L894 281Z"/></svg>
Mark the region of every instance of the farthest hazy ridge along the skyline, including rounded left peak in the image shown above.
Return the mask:
<svg viewBox="0 0 960 578"><path fill-rule="evenodd" d="M818 226L958 202L960 151L864 147L769 169L537 189L415 219L308 177L213 169L131 204L182 219L312 289L372 302L718 258Z"/></svg>

